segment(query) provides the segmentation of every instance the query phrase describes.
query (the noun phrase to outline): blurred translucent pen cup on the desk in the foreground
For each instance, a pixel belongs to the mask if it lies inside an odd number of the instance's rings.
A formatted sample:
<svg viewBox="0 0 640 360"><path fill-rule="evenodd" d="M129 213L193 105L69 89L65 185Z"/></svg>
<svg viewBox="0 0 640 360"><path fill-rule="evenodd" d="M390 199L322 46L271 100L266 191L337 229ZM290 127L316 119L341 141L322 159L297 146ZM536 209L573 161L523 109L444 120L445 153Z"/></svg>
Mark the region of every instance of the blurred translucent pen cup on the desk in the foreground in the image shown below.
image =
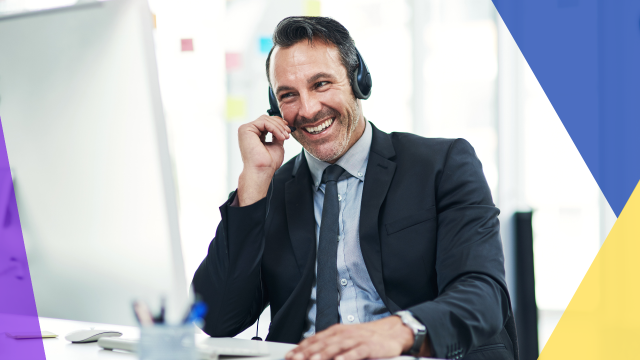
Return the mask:
<svg viewBox="0 0 640 360"><path fill-rule="evenodd" d="M195 360L193 324L141 327L138 355L140 360Z"/></svg>

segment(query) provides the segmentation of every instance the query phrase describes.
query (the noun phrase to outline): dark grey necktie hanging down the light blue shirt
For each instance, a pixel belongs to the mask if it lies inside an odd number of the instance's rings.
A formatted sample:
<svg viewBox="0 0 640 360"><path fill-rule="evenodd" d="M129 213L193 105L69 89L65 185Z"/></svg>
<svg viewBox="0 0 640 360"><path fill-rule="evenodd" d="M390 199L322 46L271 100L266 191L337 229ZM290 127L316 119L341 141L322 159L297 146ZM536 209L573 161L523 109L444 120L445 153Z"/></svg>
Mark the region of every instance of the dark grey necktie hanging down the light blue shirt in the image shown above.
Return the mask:
<svg viewBox="0 0 640 360"><path fill-rule="evenodd" d="M320 223L316 277L316 333L339 322L338 315L338 178L344 168L331 165L324 169L324 202Z"/></svg>

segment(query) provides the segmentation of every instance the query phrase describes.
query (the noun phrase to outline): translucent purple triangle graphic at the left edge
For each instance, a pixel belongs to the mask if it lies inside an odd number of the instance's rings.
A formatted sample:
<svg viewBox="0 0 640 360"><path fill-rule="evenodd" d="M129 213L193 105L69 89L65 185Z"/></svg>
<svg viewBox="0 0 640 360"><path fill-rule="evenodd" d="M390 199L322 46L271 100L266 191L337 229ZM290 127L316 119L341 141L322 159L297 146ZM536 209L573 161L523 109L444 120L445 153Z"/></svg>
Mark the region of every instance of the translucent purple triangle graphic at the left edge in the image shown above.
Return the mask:
<svg viewBox="0 0 640 360"><path fill-rule="evenodd" d="M45 360L42 338L13 339L7 334L39 334L40 322L1 119L0 140L0 359Z"/></svg>

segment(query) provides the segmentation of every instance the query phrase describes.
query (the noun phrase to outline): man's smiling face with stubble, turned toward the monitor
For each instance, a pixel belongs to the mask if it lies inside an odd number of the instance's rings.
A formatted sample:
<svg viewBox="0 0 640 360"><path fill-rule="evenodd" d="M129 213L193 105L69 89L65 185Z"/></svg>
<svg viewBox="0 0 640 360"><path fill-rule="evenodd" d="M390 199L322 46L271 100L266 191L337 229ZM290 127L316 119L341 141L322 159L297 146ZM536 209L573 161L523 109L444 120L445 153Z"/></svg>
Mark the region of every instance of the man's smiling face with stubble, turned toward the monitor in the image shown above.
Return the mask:
<svg viewBox="0 0 640 360"><path fill-rule="evenodd" d="M314 158L335 163L360 138L365 123L337 47L307 40L271 53L269 78L293 137Z"/></svg>

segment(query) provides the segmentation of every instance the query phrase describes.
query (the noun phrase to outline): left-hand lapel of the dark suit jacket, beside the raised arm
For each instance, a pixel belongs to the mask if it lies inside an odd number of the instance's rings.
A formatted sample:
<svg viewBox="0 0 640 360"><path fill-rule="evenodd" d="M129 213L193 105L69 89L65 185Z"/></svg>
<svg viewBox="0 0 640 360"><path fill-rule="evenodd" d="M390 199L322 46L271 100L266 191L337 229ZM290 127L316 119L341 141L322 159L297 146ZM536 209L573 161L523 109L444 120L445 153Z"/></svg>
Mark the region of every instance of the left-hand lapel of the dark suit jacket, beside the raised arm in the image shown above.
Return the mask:
<svg viewBox="0 0 640 360"><path fill-rule="evenodd" d="M296 166L293 179L285 183L284 197L291 246L296 256L298 270L300 274L303 274L309 259L309 252L316 245L316 218L314 216L314 198L311 192L311 173L305 156L303 154L299 156L300 165Z"/></svg>

